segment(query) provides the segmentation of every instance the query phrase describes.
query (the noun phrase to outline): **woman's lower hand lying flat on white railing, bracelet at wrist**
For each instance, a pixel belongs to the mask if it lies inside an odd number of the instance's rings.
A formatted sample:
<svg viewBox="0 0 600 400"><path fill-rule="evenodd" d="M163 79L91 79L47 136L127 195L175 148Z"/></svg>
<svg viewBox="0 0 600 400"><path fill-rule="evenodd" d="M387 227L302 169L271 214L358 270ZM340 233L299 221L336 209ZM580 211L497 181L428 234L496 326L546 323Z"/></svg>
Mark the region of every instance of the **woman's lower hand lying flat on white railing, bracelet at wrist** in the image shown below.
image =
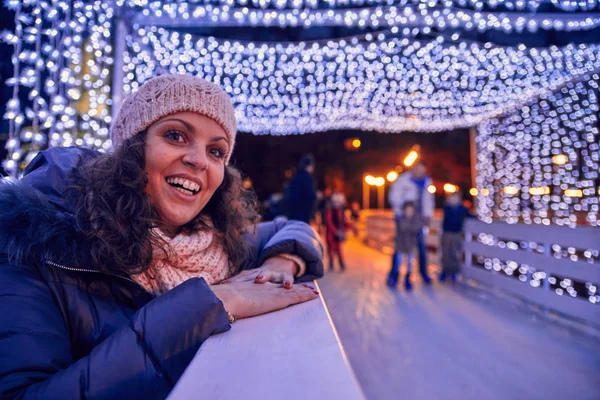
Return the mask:
<svg viewBox="0 0 600 400"><path fill-rule="evenodd" d="M225 310L237 319L281 310L293 304L316 299L319 296L319 292L306 283L293 285L287 290L281 285L270 282L263 285L255 285L253 282L237 282L211 286L211 289L223 302Z"/></svg>

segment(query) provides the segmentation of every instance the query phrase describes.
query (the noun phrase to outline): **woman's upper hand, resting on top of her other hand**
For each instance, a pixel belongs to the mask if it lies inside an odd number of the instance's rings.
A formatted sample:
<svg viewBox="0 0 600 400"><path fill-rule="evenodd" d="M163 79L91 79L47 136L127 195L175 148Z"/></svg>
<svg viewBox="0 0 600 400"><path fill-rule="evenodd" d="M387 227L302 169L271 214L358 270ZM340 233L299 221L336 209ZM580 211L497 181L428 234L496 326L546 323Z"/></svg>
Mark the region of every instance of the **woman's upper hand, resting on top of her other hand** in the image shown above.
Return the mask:
<svg viewBox="0 0 600 400"><path fill-rule="evenodd" d="M221 283L272 282L281 283L284 288L290 289L294 283L294 275L298 273L298 269L298 264L292 260L283 257L271 257L259 268L242 271Z"/></svg>

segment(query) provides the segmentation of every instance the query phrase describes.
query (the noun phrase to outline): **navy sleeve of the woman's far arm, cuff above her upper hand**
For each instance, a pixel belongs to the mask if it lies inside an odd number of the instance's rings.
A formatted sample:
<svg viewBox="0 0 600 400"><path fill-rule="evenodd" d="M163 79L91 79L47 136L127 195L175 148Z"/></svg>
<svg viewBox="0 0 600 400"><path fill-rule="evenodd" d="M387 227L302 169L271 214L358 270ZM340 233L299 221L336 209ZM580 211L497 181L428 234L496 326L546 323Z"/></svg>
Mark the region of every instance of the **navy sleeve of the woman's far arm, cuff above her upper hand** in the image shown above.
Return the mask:
<svg viewBox="0 0 600 400"><path fill-rule="evenodd" d="M277 218L256 226L246 241L250 257L242 269L257 268L268 258L293 254L304 260L306 272L299 281L310 281L323 276L323 244L319 235L307 223Z"/></svg>

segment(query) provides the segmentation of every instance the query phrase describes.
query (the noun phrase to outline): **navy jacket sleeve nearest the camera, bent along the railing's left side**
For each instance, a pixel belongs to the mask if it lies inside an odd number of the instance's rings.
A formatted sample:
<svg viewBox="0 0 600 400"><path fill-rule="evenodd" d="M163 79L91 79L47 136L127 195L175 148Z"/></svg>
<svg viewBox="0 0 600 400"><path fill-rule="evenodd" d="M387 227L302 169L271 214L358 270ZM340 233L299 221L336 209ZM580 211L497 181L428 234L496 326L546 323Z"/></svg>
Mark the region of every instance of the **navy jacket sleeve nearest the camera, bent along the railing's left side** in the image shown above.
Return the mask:
<svg viewBox="0 0 600 400"><path fill-rule="evenodd" d="M202 279L152 300L78 360L67 324L36 268L0 263L0 398L162 399L202 342L230 327Z"/></svg>

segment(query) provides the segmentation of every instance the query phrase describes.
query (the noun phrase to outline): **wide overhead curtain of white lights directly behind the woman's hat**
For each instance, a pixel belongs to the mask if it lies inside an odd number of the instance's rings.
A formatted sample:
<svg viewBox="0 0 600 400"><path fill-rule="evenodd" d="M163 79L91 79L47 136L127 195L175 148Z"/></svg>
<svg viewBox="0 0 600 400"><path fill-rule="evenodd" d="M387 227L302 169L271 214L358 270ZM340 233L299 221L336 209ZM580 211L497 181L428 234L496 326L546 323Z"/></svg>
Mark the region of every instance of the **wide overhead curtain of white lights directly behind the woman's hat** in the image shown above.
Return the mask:
<svg viewBox="0 0 600 400"><path fill-rule="evenodd" d="M600 46L527 49L389 33L318 43L242 43L163 28L128 37L125 91L192 73L221 85L255 134L472 126L600 67Z"/></svg>

